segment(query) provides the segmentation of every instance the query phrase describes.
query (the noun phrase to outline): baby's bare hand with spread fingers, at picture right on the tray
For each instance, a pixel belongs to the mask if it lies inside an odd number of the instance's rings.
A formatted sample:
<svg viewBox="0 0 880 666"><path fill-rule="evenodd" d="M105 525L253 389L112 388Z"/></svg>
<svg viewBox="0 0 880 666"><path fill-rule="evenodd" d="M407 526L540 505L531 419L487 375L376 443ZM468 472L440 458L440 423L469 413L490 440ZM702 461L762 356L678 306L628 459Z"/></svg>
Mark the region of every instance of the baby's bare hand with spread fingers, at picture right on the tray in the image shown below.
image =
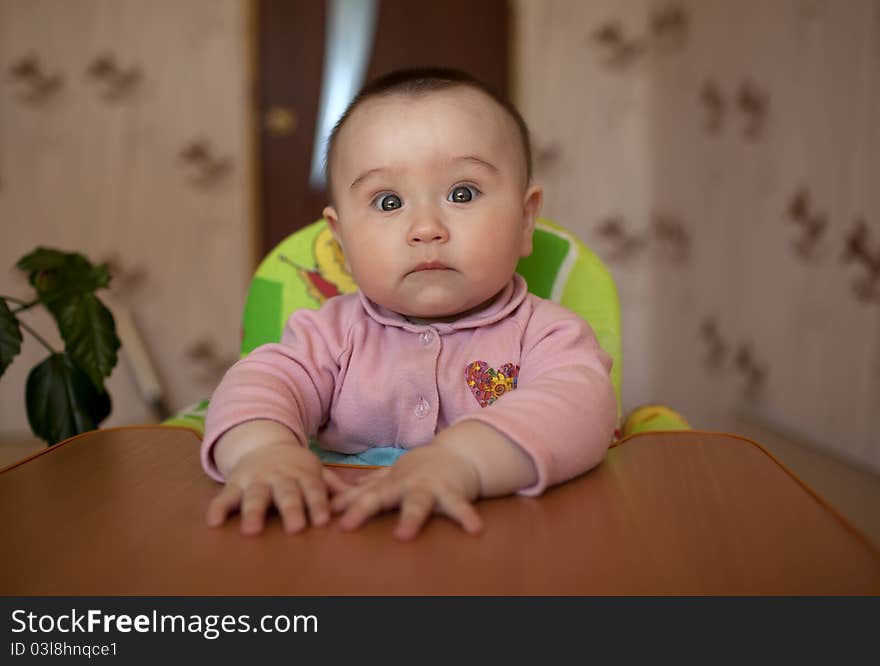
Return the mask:
<svg viewBox="0 0 880 666"><path fill-rule="evenodd" d="M339 524L353 530L382 511L400 507L394 535L411 539L432 513L458 522L465 532L483 527L473 500L480 495L476 467L441 444L409 451L390 469L373 473L363 483L333 498L331 508L343 512Z"/></svg>

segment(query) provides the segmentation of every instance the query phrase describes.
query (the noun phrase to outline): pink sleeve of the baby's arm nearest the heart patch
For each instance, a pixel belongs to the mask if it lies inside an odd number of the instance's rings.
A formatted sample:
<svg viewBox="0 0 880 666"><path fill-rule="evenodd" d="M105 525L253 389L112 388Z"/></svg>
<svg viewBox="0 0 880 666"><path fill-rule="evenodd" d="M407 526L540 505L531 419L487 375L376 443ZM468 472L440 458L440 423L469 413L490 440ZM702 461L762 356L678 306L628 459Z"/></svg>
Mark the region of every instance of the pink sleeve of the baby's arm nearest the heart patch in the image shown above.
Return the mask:
<svg viewBox="0 0 880 666"><path fill-rule="evenodd" d="M539 495L602 461L617 422L611 364L581 317L548 301L535 306L516 390L464 417L492 426L531 457L538 479L520 494Z"/></svg>

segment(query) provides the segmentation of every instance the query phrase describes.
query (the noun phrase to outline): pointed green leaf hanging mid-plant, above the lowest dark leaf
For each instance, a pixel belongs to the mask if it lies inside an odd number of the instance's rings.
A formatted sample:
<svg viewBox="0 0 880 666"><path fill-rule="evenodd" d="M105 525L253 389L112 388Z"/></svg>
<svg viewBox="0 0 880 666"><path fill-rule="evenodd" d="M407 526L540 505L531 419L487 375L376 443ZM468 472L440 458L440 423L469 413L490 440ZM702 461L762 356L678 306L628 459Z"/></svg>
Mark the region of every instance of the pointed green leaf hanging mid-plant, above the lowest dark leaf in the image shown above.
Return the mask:
<svg viewBox="0 0 880 666"><path fill-rule="evenodd" d="M92 293L67 294L47 304L58 322L65 350L100 391L118 360L120 343L110 310Z"/></svg>

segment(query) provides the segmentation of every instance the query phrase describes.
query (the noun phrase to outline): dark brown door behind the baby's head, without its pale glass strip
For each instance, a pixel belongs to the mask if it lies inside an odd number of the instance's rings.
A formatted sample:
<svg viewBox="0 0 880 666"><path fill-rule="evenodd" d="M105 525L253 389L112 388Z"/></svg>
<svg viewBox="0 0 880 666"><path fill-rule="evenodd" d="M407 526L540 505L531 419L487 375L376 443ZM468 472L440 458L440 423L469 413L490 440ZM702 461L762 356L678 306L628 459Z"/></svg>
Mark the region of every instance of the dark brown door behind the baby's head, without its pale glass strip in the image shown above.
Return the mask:
<svg viewBox="0 0 880 666"><path fill-rule="evenodd" d="M309 186L328 2L258 0L257 103L262 255L321 216ZM507 0L378 0L366 80L400 67L465 69L508 91Z"/></svg>

